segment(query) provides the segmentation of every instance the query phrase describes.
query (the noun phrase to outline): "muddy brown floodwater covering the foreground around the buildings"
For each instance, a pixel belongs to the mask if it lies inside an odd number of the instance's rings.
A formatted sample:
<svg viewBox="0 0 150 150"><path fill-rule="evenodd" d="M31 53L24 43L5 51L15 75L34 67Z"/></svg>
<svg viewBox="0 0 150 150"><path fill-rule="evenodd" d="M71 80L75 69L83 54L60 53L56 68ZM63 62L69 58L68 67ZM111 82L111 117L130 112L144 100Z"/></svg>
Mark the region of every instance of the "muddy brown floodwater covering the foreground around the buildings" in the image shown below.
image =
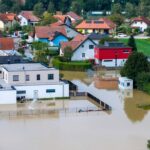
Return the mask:
<svg viewBox="0 0 150 150"><path fill-rule="evenodd" d="M85 83L89 91L113 107L112 113L60 111L32 118L1 117L0 150L147 150L150 111L139 109L137 105L150 103L150 96L136 90L97 89L92 77L85 74L80 78L73 74L72 80ZM79 99L57 101L55 105L44 102L34 107L96 107L87 100ZM9 106L9 109L27 109L28 106ZM0 107L2 109L4 106Z"/></svg>

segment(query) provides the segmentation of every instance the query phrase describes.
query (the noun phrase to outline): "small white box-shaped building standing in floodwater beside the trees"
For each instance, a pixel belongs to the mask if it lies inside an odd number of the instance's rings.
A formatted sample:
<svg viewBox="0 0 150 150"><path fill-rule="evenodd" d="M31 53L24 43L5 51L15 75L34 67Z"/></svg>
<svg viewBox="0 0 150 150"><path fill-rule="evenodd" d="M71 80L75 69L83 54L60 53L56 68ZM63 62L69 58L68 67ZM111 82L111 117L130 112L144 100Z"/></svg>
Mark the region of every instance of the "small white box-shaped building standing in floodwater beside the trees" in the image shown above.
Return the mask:
<svg viewBox="0 0 150 150"><path fill-rule="evenodd" d="M133 89L133 80L128 79L127 77L119 77L119 83L118 83L119 89Z"/></svg>

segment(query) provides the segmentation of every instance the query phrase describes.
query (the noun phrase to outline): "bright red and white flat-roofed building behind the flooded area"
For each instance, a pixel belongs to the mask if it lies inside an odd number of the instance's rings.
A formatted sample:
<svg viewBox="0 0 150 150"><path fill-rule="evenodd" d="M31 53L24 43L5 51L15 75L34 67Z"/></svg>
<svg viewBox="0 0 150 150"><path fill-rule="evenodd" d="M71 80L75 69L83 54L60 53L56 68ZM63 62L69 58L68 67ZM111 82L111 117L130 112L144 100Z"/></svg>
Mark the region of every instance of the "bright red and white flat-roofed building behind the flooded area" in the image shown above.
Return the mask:
<svg viewBox="0 0 150 150"><path fill-rule="evenodd" d="M95 63L105 67L121 67L131 53L132 48L121 42L106 42L95 47Z"/></svg>

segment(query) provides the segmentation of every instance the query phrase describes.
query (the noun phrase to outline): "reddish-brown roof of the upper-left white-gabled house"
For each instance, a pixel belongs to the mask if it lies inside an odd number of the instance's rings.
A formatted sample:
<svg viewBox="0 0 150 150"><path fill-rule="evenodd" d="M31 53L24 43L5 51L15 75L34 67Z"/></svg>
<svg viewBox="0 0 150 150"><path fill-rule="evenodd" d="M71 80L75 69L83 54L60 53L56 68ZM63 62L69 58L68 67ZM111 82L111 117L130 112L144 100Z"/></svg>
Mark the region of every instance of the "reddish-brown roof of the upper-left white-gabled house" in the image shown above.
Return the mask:
<svg viewBox="0 0 150 150"><path fill-rule="evenodd" d="M24 18L26 18L27 20L32 21L32 22L38 22L38 21L40 21L40 18L38 18L37 16L35 16L32 11L22 11L20 13L20 15L23 16Z"/></svg>

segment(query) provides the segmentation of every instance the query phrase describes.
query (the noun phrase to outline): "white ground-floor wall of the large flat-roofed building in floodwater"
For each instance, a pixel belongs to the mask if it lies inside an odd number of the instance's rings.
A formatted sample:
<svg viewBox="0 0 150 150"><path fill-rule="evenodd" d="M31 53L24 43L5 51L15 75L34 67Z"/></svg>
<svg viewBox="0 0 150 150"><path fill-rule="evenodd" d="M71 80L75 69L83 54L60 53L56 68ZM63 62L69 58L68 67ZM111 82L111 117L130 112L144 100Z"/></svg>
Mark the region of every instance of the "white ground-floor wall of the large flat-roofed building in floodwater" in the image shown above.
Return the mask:
<svg viewBox="0 0 150 150"><path fill-rule="evenodd" d="M38 98L50 97L69 97L69 85L60 83L57 85L38 85L38 86L15 86L17 91L26 91L26 94L17 94L17 96L25 96L27 99L34 98L34 91L38 91ZM55 89L55 93L46 93L47 89Z"/></svg>

